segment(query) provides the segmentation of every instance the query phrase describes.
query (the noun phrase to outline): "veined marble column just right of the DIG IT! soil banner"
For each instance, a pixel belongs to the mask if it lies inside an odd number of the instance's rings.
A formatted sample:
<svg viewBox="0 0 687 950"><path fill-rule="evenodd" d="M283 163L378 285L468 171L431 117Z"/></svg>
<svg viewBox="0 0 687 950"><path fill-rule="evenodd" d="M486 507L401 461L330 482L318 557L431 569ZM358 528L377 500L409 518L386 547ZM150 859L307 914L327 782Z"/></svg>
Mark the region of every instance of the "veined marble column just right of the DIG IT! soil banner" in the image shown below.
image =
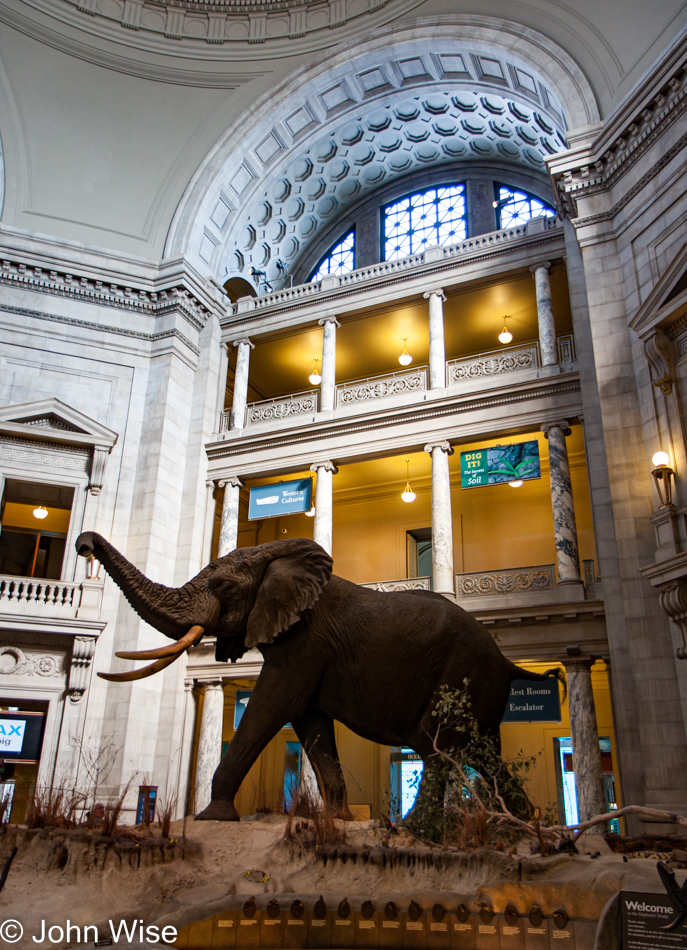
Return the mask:
<svg viewBox="0 0 687 950"><path fill-rule="evenodd" d="M568 423L563 420L543 425L541 430L549 440L549 478L558 583L581 584L575 506L570 484L568 450L565 445L565 437L570 435L570 429Z"/></svg>

